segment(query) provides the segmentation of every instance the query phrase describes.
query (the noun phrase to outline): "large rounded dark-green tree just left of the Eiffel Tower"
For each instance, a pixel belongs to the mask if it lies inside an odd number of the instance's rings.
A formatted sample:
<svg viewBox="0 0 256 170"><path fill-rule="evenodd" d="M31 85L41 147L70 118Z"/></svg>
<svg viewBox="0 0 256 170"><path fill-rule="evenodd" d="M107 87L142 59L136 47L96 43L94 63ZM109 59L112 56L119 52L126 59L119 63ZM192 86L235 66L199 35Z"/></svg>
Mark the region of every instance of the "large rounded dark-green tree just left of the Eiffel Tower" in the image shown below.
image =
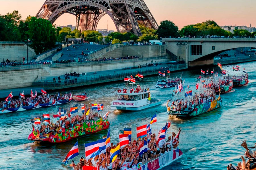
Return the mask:
<svg viewBox="0 0 256 170"><path fill-rule="evenodd" d="M55 28L51 22L42 18L32 17L28 24L28 36L32 41L32 48L36 54L40 54L55 46Z"/></svg>

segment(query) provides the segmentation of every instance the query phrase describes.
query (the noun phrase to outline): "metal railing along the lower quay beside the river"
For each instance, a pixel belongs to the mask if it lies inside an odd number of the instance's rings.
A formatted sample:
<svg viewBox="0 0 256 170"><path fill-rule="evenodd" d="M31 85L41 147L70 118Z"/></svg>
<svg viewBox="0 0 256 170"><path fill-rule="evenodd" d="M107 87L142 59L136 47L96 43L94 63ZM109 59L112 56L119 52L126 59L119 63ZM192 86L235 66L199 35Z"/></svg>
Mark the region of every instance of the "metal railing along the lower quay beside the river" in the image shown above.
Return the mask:
<svg viewBox="0 0 256 170"><path fill-rule="evenodd" d="M131 69L127 70L124 73L115 73L115 74L103 74L103 75L86 75L81 76L77 78L72 79L56 79L54 80L47 80L49 78L47 77L41 77L41 79L35 80L33 83L33 86L40 86L45 89L61 89L61 88L70 88L70 87L78 87L78 86L85 86L90 84L98 84L98 83L104 83L104 82L111 82L111 81L117 81L122 80L126 76L135 75L137 73L143 74L143 75L154 75L158 74L158 71L160 70L162 65L158 66L152 66L154 68L150 69ZM170 71L177 71L186 69L186 64L177 64L177 65L171 65L169 66Z"/></svg>

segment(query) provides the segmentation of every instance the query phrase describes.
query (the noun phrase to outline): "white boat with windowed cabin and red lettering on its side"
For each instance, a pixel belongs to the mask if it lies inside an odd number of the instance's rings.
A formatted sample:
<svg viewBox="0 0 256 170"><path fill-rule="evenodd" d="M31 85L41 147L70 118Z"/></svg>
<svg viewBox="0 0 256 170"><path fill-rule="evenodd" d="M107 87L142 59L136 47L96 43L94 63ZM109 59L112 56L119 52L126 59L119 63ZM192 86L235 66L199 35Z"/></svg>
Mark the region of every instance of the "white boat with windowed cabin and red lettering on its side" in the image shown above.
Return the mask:
<svg viewBox="0 0 256 170"><path fill-rule="evenodd" d="M111 103L111 110L139 111L161 104L161 100L150 97L150 91L117 93L117 97L118 99Z"/></svg>

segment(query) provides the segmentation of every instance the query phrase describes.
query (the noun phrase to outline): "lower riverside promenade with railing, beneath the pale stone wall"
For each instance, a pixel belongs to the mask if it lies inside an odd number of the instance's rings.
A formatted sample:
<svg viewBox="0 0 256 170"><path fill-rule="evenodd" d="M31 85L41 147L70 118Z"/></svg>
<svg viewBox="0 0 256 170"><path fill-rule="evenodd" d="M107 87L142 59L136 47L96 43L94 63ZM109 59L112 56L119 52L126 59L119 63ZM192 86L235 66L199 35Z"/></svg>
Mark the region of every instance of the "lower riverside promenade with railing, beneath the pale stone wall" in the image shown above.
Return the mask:
<svg viewBox="0 0 256 170"><path fill-rule="evenodd" d="M56 76L44 76L39 77L37 80L35 80L33 82L33 86L0 90L0 98L7 97L10 92L13 92L13 96L18 96L19 92L22 92L23 90L25 95L30 95L31 89L33 90L33 93L35 92L35 90L38 93L41 93L41 89L55 91L65 88L74 88L79 86L119 81L130 75L135 76L137 73L144 76L157 75L158 71L164 67L169 67L169 70L171 72L186 69L185 64L170 65L164 62L159 63L157 66L97 71L96 74L94 74L95 72L88 72L85 73L85 75L80 74L79 77L71 76L69 79L65 79L65 73L63 73L62 76L59 76L60 80ZM53 78L55 78L56 80L54 81Z"/></svg>

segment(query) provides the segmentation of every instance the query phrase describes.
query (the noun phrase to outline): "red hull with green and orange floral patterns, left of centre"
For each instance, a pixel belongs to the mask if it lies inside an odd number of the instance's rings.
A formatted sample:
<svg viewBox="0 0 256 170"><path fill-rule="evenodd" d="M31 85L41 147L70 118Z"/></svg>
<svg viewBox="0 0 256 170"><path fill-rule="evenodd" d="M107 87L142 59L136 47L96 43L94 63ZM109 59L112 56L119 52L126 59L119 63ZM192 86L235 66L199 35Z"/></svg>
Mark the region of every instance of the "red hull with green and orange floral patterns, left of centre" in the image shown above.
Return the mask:
<svg viewBox="0 0 256 170"><path fill-rule="evenodd" d="M98 133L100 131L106 130L109 128L109 125L110 125L108 120L102 120L102 119L97 120L96 124L94 124L92 127L88 127L86 123L84 123L83 125L84 133L78 133L78 135L73 135L73 136L66 135L67 133L71 134L71 132L73 131L72 128L66 130L65 136L53 135L52 133L49 133L41 137L38 137L36 136L36 132L32 131L32 133L28 136L28 139L32 141L42 142L42 143L64 143L76 138L84 137L86 135L90 135L93 133ZM82 127L80 127L80 131L81 130L82 130Z"/></svg>

